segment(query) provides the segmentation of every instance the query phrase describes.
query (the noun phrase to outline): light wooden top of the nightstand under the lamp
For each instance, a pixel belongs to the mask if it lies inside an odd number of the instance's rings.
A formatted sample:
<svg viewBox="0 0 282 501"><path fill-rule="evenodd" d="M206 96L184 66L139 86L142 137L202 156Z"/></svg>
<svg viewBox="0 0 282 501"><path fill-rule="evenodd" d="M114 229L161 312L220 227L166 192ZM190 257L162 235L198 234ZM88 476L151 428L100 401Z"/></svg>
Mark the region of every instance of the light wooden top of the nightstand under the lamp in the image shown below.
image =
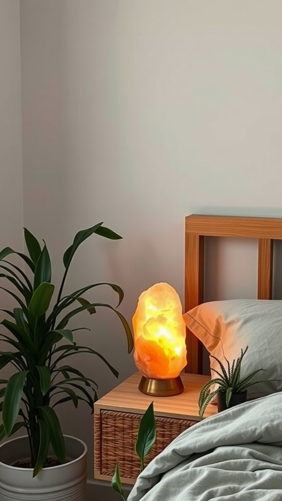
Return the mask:
<svg viewBox="0 0 282 501"><path fill-rule="evenodd" d="M100 409L114 409L115 411L143 414L152 400L154 400L154 412L156 416L191 419L193 421L200 420L198 398L201 388L210 379L208 376L181 374L184 392L173 397L144 395L144 393L138 390L140 377L141 374L136 372L95 402L95 414L98 414ZM210 404L206 409L205 417L216 413L217 406Z"/></svg>

